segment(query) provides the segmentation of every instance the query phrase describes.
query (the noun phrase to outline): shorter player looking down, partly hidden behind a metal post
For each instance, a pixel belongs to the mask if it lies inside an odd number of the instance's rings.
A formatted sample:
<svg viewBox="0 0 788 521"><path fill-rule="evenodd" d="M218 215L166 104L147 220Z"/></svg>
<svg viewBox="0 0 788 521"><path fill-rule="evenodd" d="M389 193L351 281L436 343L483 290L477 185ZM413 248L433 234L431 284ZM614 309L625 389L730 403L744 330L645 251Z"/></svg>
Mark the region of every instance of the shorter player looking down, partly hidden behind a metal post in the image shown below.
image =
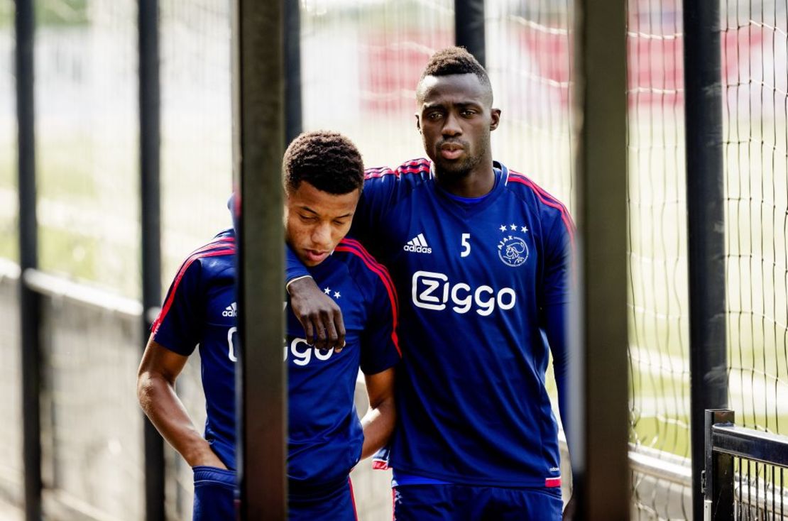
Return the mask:
<svg viewBox="0 0 788 521"><path fill-rule="evenodd" d="M395 423L396 292L385 268L356 241L344 240L363 184L353 143L335 132L302 134L284 155L283 180L288 251L341 309L347 330L344 349L315 348L286 311L289 519L353 521L348 474L388 441ZM180 267L137 380L143 410L194 469L199 521L235 519L234 244L234 231L225 230ZM175 392L198 344L208 413L204 437ZM360 422L353 404L359 367L370 399Z"/></svg>

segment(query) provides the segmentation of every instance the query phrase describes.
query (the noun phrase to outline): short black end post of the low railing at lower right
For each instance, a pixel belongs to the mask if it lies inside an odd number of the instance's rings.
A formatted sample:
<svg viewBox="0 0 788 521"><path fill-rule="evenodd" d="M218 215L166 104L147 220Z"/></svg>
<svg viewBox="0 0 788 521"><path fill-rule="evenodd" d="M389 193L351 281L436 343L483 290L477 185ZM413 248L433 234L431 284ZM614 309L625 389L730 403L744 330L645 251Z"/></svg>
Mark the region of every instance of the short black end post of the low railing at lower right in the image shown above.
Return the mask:
<svg viewBox="0 0 788 521"><path fill-rule="evenodd" d="M730 454L716 452L712 439L712 426L716 423L733 423L734 411L727 409L708 409L704 411L704 457L701 461L704 468L704 487L698 489L698 494L693 494L693 501L697 497L701 503L701 517L703 518L703 503L710 501L712 504L712 519L716 521L733 521L734 519L734 458ZM739 477L742 469L739 464ZM749 491L749 487L748 487ZM739 482L739 493L742 493Z"/></svg>

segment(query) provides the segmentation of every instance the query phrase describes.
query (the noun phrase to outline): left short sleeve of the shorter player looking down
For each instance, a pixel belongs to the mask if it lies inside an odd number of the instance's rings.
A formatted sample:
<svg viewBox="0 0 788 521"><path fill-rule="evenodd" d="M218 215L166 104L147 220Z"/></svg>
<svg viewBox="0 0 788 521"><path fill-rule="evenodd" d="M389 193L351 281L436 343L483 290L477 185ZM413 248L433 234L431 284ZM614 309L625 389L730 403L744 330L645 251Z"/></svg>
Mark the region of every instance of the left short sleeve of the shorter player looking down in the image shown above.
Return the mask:
<svg viewBox="0 0 788 521"><path fill-rule="evenodd" d="M201 274L199 259L189 259L180 266L153 324L154 341L179 355L194 352L205 323Z"/></svg>

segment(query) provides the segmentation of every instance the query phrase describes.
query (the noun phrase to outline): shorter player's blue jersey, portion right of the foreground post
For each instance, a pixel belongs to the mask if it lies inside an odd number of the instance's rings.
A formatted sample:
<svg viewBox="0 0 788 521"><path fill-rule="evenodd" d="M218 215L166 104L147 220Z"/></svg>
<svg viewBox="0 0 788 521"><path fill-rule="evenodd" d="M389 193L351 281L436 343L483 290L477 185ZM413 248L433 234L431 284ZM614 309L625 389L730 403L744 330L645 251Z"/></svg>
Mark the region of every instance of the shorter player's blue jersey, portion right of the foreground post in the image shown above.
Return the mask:
<svg viewBox="0 0 788 521"><path fill-rule="evenodd" d="M359 462L361 422L353 406L359 366L376 374L400 361L396 291L388 271L355 240L345 239L309 273L339 305L345 348L313 348L287 313L289 452L291 489L347 481Z"/></svg>

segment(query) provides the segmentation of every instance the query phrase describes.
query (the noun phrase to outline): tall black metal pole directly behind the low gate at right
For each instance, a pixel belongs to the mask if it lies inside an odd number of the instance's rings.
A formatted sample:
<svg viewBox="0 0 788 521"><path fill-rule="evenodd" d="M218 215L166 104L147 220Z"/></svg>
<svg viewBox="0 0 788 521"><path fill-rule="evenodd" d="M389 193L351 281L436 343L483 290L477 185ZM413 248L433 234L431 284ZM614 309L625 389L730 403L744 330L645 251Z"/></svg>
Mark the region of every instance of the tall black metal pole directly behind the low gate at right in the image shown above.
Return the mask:
<svg viewBox="0 0 788 521"><path fill-rule="evenodd" d="M703 519L704 411L727 407L719 0L684 4L693 515Z"/></svg>

